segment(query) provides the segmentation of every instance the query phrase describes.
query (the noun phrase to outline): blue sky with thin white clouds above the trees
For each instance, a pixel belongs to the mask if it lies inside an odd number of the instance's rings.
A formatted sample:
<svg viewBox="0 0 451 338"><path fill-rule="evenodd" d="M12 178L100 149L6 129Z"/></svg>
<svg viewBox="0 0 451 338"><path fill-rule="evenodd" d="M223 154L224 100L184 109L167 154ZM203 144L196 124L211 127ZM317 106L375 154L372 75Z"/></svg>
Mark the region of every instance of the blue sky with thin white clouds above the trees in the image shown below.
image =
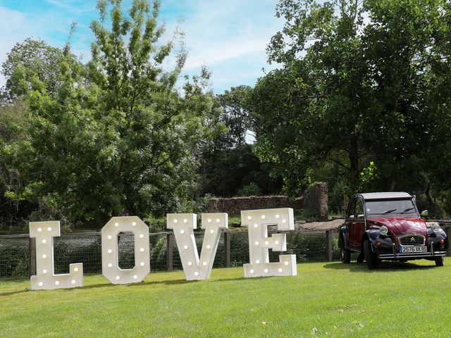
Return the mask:
<svg viewBox="0 0 451 338"><path fill-rule="evenodd" d="M211 87L221 93L240 84L253 85L264 75L266 44L283 26L275 17L277 0L161 0L160 23L166 23L162 42L171 39L183 19L189 56L184 73L199 73L206 65L213 73ZM131 0L124 0L129 8ZM26 37L63 46L70 24L78 24L73 52L89 59L93 35L89 23L98 18L95 0L0 0L0 63L16 42ZM0 75L0 86L4 85Z"/></svg>

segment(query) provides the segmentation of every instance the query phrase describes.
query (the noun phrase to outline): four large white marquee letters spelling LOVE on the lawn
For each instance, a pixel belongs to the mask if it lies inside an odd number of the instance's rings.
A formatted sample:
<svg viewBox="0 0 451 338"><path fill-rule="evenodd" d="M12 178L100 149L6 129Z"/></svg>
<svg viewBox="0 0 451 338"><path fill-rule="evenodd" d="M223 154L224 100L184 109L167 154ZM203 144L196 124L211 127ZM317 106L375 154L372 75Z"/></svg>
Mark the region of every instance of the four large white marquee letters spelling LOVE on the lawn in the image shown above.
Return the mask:
<svg viewBox="0 0 451 338"><path fill-rule="evenodd" d="M197 253L193 230L197 227L194 213L169 213L167 227L174 232L187 280L210 277L221 230L228 228L227 213L203 213L204 241ZM294 230L292 208L241 212L241 223L249 234L249 262L244 265L245 277L295 276L296 256L280 255L278 262L269 261L268 249L286 251L286 234L268 237L268 225L278 230ZM135 237L135 266L121 269L118 265L118 234L132 232ZM32 290L61 289L83 285L82 263L70 264L70 273L54 275L53 237L60 236L59 221L30 223L30 237L36 238L36 275L31 277ZM137 216L113 217L101 230L102 274L113 284L141 282L150 272L149 227Z"/></svg>

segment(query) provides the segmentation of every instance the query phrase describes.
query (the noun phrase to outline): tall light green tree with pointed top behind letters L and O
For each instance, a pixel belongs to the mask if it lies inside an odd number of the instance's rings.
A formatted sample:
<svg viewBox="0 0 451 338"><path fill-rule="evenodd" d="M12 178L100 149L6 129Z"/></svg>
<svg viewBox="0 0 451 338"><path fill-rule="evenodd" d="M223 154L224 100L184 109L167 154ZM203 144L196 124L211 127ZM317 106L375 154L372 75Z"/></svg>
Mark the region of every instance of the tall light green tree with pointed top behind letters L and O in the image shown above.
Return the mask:
<svg viewBox="0 0 451 338"><path fill-rule="evenodd" d="M33 77L30 141L7 149L27 184L9 196L39 201L43 213L70 223L177 211L194 194L213 102L204 90L208 73L178 94L186 54L180 51L173 70L163 69L174 39L158 43L158 1L135 0L129 15L117 0L97 8L91 61L81 65L64 49L56 94Z"/></svg>

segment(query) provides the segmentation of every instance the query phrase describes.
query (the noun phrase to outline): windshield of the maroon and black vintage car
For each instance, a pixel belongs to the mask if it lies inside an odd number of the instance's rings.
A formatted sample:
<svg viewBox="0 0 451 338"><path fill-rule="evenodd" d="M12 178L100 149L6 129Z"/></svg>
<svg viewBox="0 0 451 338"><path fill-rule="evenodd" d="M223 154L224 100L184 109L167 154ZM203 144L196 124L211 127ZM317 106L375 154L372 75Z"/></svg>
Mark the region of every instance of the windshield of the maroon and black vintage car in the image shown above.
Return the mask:
<svg viewBox="0 0 451 338"><path fill-rule="evenodd" d="M367 215L416 215L414 201L412 199L390 199L365 201Z"/></svg>

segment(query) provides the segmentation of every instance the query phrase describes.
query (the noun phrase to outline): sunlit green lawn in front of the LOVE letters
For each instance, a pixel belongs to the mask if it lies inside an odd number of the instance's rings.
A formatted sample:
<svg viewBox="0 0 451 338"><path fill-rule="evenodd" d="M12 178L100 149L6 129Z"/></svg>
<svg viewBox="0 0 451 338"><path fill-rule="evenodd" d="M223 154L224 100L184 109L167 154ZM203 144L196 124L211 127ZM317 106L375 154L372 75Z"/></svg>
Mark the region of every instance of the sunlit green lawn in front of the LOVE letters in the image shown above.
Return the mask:
<svg viewBox="0 0 451 338"><path fill-rule="evenodd" d="M447 258L445 263L451 263ZM451 266L433 262L305 263L297 277L243 278L214 269L142 283L28 291L0 281L0 337L450 337Z"/></svg>

